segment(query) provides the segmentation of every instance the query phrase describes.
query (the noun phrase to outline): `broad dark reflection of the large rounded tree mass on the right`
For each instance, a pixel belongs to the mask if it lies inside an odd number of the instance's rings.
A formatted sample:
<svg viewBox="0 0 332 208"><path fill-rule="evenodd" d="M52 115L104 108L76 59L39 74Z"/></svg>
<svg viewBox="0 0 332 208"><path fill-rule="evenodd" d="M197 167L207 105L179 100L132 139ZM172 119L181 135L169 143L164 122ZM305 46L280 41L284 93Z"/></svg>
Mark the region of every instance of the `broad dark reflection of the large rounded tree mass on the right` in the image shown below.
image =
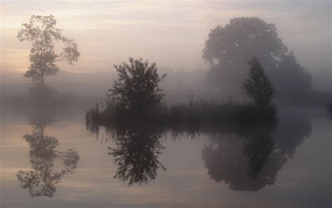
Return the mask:
<svg viewBox="0 0 332 208"><path fill-rule="evenodd" d="M305 119L286 119L284 123L280 122L277 131L257 126L244 137L211 138L202 150L209 176L235 191L258 191L275 184L279 170L311 132Z"/></svg>

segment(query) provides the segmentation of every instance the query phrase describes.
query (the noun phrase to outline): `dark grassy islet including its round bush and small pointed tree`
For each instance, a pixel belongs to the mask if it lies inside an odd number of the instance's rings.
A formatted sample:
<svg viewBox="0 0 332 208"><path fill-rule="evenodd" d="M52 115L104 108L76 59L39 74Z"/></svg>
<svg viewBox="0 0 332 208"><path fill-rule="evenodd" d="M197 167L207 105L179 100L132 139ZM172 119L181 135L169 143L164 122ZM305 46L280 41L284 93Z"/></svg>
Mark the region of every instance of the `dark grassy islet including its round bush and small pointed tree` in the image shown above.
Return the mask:
<svg viewBox="0 0 332 208"><path fill-rule="evenodd" d="M87 126L123 125L145 122L162 126L198 126L221 123L275 121L277 110L272 103L276 91L256 57L249 62L248 78L242 89L249 97L242 103L209 101L188 96L186 103L166 105L159 84L166 75L158 75L155 63L129 59L116 65L118 79L108 91L108 99L86 112Z"/></svg>

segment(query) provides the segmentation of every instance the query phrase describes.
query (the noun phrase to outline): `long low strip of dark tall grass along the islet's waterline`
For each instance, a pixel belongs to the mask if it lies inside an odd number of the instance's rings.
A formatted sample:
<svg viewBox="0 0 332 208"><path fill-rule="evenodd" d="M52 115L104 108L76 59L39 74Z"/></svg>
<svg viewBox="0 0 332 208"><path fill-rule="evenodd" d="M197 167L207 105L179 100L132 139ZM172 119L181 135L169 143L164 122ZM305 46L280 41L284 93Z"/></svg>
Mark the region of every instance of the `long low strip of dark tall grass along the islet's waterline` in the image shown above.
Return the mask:
<svg viewBox="0 0 332 208"><path fill-rule="evenodd" d="M99 109L99 105L92 107L86 112L85 118L87 126L93 126L92 124L116 126L144 122L177 128L177 126L275 121L277 110L273 105L258 107L254 103L238 103L231 98L228 101L218 101L216 98L203 100L190 96L186 103L162 104L149 112L137 115L120 107L116 100L111 99L106 102L103 110Z"/></svg>

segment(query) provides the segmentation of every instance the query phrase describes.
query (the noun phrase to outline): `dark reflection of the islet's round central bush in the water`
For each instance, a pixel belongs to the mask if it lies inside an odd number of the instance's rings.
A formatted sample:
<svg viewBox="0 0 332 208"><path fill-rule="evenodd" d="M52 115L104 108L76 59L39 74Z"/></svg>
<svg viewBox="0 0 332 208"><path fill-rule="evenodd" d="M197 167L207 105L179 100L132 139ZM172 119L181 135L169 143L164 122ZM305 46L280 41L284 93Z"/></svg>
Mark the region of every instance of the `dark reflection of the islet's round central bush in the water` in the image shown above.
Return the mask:
<svg viewBox="0 0 332 208"><path fill-rule="evenodd" d="M165 170L158 161L162 154L162 133L149 132L146 128L116 131L116 148L109 147L109 154L118 166L114 178L128 181L129 185L147 183L155 179L158 168Z"/></svg>

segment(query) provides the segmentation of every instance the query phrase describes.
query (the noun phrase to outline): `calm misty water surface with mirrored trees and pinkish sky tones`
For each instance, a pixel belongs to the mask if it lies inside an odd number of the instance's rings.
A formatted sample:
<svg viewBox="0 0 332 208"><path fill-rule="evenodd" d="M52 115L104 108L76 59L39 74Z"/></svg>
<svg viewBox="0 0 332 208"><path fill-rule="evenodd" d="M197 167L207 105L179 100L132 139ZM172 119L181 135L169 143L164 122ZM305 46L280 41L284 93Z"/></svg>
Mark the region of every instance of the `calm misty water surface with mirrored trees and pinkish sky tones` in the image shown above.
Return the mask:
<svg viewBox="0 0 332 208"><path fill-rule="evenodd" d="M273 128L97 135L84 113L48 113L1 117L1 207L331 207L324 108L283 107Z"/></svg>

